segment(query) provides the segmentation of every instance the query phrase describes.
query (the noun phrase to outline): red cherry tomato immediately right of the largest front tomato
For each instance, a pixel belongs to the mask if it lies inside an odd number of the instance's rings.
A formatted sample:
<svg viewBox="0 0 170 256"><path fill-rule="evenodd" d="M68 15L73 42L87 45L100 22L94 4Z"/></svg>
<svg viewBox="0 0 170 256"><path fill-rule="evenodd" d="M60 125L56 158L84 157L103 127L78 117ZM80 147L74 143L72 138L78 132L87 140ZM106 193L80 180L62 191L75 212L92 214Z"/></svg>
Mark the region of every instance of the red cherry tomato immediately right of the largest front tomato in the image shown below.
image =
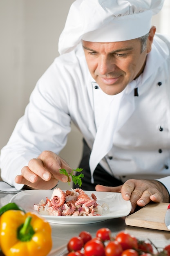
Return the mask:
<svg viewBox="0 0 170 256"><path fill-rule="evenodd" d="M123 249L118 241L110 241L105 247L105 256L121 256Z"/></svg>

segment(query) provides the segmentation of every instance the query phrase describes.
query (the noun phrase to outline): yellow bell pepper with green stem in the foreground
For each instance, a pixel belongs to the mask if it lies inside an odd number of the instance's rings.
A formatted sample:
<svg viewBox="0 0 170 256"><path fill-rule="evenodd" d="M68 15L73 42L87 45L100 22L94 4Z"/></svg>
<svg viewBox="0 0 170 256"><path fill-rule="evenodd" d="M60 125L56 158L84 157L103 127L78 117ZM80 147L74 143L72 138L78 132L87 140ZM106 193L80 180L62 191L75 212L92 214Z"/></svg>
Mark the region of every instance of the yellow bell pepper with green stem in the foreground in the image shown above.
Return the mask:
<svg viewBox="0 0 170 256"><path fill-rule="evenodd" d="M0 247L5 256L46 256L51 226L36 213L8 210L0 216Z"/></svg>

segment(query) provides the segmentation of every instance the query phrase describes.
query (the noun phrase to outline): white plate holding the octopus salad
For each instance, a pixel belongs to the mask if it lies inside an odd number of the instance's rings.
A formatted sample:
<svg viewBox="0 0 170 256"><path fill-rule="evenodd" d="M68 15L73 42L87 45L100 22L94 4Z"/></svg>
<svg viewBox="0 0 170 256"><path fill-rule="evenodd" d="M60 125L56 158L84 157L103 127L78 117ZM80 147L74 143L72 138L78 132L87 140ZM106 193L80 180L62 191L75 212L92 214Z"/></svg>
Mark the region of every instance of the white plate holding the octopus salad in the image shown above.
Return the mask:
<svg viewBox="0 0 170 256"><path fill-rule="evenodd" d="M52 192L52 190L25 190L14 195L10 202L15 202L25 209L25 211L34 211L33 205L38 204L42 199L46 200L46 197L51 198ZM102 205L104 202L107 203L109 205L110 212L104 213L101 216L41 216L46 218L48 222L51 223L88 224L128 216L131 211L131 202L124 200L121 193L98 191L85 191L85 193L87 193L87 195L94 193L97 197L97 203L100 205Z"/></svg>

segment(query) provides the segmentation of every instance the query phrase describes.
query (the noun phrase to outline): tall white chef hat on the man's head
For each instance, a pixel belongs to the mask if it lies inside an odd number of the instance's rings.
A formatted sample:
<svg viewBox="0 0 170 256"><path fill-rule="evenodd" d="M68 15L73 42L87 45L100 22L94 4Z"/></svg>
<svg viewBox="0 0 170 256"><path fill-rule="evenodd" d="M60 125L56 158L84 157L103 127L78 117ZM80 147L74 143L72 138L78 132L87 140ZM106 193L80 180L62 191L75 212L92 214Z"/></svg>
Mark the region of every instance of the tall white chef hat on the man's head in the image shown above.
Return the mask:
<svg viewBox="0 0 170 256"><path fill-rule="evenodd" d="M76 0L70 7L58 51L70 52L81 42L118 42L150 31L152 15L164 0Z"/></svg>

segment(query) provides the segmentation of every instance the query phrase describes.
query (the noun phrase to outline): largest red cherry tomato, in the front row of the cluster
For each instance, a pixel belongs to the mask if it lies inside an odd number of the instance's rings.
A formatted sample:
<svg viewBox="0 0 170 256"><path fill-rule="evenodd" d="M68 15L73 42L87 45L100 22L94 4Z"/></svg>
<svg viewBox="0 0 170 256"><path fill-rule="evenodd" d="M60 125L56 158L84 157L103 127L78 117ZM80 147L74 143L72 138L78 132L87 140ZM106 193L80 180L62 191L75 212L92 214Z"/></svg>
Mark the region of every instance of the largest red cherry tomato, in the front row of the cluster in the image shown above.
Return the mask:
<svg viewBox="0 0 170 256"><path fill-rule="evenodd" d="M85 256L105 256L104 245L99 240L90 240L84 246Z"/></svg>

